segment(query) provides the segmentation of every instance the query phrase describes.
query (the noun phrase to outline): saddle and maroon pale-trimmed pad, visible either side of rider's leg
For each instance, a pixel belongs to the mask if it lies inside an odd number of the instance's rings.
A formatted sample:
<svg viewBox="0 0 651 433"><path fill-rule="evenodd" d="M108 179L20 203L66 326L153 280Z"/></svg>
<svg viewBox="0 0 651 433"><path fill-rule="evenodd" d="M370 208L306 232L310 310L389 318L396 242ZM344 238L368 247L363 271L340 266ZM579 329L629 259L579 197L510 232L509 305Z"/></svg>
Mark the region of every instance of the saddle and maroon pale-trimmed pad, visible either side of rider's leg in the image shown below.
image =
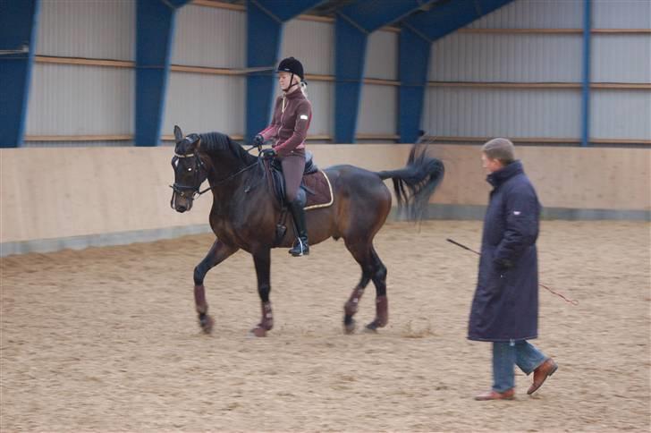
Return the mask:
<svg viewBox="0 0 651 433"><path fill-rule="evenodd" d="M275 198L281 208L286 208L288 203L285 200L285 183L283 177L283 166L280 161L273 159L270 164L272 183L274 184ZM314 208L325 208L333 204L333 188L330 180L324 172L314 164L313 154L305 152L305 170L300 188L305 190L308 199L305 210Z"/></svg>

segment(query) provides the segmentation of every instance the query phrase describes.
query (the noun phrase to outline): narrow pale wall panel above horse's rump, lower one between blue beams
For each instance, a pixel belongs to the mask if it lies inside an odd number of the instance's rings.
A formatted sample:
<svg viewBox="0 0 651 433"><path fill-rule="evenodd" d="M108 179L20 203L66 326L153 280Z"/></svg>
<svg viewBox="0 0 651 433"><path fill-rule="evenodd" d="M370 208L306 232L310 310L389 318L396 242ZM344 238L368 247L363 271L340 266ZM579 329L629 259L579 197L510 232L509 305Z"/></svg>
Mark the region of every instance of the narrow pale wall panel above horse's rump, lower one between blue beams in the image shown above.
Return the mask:
<svg viewBox="0 0 651 433"><path fill-rule="evenodd" d="M358 133L395 134L398 112L398 88L365 84L361 89Z"/></svg>

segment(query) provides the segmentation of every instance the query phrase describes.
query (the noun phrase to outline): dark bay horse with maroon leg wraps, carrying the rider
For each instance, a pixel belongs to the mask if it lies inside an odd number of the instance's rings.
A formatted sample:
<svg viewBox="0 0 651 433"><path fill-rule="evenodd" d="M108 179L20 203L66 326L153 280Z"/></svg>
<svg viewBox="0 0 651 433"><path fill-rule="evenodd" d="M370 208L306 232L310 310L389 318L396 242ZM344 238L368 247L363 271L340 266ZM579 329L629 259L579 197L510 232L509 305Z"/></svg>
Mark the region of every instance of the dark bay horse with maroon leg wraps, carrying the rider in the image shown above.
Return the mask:
<svg viewBox="0 0 651 433"><path fill-rule="evenodd" d="M260 157L249 155L240 144L218 132L186 137L175 126L174 138L171 206L178 212L185 212L192 208L192 202L200 192L213 193L209 220L216 241L194 269L194 299L199 325L209 333L214 324L213 318L207 314L203 284L208 270L235 251L245 250L253 256L262 303L262 318L252 332L264 336L274 326L269 301L271 249L290 248L295 238L293 231L288 229L281 240L277 239L276 225L282 209L267 182L268 164ZM425 149L415 145L407 166L400 170L376 173L356 166L332 166L324 172L332 184L334 203L307 212L310 244L330 237L343 239L361 267L361 280L344 304L344 330L347 333L354 331L353 316L358 310L359 300L368 282L373 281L376 286L376 318L367 328L375 331L388 322L386 267L373 247L373 238L391 210L392 196L383 181L393 179L399 205L408 210L412 218L418 219L443 179L444 166L440 160L428 157ZM201 183L206 180L210 188L199 191Z"/></svg>

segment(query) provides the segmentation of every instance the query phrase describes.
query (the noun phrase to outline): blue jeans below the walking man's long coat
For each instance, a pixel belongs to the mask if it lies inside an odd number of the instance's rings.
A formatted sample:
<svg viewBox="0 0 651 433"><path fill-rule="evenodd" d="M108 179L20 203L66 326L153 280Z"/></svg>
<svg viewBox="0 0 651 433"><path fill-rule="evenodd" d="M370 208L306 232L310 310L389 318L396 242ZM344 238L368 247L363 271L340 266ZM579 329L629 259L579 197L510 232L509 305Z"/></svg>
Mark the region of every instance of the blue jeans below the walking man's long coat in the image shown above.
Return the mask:
<svg viewBox="0 0 651 433"><path fill-rule="evenodd" d="M503 393L515 386L514 365L528 375L546 359L545 353L526 340L493 343L493 390Z"/></svg>

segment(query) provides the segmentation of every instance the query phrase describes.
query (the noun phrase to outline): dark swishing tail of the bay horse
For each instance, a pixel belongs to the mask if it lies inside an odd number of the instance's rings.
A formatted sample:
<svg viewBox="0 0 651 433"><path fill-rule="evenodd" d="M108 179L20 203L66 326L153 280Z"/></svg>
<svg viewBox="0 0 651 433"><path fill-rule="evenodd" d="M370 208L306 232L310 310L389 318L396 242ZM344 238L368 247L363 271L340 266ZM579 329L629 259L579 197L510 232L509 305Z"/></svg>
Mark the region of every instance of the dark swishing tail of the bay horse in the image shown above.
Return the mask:
<svg viewBox="0 0 651 433"><path fill-rule="evenodd" d="M404 208L411 220L423 218L429 198L443 180L443 161L427 156L427 146L415 144L407 159L407 166L400 170L377 172L380 178L393 180L393 190L398 208Z"/></svg>

